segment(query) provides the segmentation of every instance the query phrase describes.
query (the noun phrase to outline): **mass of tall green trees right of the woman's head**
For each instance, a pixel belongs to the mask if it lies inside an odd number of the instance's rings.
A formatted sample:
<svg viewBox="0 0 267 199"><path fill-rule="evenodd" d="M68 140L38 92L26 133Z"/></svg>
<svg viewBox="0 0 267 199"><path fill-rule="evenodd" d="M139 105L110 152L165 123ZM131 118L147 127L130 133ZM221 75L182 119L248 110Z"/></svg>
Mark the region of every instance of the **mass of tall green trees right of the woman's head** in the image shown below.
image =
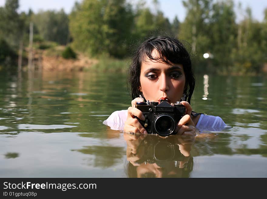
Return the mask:
<svg viewBox="0 0 267 199"><path fill-rule="evenodd" d="M237 24L232 0L183 3L187 15L179 37L191 44L196 71L234 74L261 71L267 60L267 26L253 21L250 8L246 8L244 20ZM205 60L204 53L213 56Z"/></svg>

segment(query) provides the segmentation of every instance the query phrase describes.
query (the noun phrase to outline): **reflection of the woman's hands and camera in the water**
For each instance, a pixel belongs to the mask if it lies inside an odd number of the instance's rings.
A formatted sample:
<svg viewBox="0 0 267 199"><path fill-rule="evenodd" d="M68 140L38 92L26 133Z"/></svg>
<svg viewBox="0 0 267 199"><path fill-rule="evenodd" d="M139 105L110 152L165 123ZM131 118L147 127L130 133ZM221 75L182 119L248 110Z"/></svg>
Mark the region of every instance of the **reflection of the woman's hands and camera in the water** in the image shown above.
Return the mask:
<svg viewBox="0 0 267 199"><path fill-rule="evenodd" d="M128 177L189 177L193 170L193 138L124 133Z"/></svg>

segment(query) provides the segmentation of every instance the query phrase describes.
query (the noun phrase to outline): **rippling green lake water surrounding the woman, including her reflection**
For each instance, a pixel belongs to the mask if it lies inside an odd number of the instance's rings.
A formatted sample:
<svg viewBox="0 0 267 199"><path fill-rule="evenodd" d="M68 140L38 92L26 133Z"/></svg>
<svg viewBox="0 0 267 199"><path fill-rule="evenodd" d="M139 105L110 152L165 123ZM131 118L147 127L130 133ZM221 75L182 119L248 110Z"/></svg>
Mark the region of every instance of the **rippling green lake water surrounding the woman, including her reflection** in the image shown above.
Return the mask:
<svg viewBox="0 0 267 199"><path fill-rule="evenodd" d="M0 177L267 177L266 75L196 75L193 110L228 128L132 135L103 121L130 106L126 74L0 75Z"/></svg>

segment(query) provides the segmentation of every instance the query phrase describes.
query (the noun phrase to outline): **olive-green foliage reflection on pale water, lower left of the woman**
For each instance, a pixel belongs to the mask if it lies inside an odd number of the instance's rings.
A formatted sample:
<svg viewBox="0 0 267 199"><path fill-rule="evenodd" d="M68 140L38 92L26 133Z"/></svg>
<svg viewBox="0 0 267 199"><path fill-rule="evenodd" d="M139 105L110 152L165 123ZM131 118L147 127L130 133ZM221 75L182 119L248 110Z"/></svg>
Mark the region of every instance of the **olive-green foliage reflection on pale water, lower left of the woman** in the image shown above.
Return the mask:
<svg viewBox="0 0 267 199"><path fill-rule="evenodd" d="M83 149L73 151L79 151L83 154L93 155L94 160L89 161L89 165L93 163L94 167L100 168L111 167L119 163L124 155L123 147L113 146L85 146Z"/></svg>

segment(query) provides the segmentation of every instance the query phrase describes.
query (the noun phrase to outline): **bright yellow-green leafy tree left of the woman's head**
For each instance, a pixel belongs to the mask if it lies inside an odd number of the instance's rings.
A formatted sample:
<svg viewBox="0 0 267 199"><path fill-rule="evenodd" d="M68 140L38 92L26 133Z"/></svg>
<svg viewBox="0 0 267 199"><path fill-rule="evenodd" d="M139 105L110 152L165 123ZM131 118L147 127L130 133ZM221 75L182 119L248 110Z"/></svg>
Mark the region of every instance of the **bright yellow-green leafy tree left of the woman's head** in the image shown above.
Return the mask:
<svg viewBox="0 0 267 199"><path fill-rule="evenodd" d="M131 5L125 0L85 0L69 16L73 45L90 55L122 57L133 26Z"/></svg>

